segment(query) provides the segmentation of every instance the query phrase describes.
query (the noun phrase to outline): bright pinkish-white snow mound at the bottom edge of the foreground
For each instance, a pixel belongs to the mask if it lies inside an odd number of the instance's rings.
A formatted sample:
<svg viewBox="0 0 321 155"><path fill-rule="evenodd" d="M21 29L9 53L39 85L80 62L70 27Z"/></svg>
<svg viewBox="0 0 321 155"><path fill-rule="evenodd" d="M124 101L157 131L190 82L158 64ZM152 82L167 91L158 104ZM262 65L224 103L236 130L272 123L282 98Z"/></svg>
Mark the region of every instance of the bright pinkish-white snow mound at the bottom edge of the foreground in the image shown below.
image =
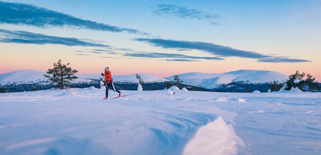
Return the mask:
<svg viewBox="0 0 321 155"><path fill-rule="evenodd" d="M237 155L244 143L221 117L201 126L187 143L183 155Z"/></svg>

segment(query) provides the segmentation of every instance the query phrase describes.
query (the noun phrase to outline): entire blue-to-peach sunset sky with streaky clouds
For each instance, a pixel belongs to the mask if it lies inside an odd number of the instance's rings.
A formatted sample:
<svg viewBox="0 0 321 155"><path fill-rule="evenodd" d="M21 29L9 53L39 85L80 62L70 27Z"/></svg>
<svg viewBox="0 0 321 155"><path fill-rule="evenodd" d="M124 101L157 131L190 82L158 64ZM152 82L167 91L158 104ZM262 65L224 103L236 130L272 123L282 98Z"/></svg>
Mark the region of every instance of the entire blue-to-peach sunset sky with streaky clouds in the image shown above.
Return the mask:
<svg viewBox="0 0 321 155"><path fill-rule="evenodd" d="M321 81L320 0L0 0L0 74L239 69Z"/></svg>

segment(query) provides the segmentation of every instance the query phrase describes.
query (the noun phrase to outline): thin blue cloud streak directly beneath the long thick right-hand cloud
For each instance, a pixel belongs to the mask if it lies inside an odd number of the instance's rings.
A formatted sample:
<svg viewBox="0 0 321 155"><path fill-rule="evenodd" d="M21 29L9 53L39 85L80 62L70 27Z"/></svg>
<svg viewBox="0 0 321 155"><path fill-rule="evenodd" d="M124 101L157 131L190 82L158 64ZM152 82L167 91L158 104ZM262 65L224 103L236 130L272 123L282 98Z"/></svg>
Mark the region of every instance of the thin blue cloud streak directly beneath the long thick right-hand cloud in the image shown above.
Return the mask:
<svg viewBox="0 0 321 155"><path fill-rule="evenodd" d="M123 56L140 57L140 58L181 58L181 59L224 60L222 58L217 58L217 57L195 57L195 56L187 56L183 54L156 53L156 52L124 53Z"/></svg>

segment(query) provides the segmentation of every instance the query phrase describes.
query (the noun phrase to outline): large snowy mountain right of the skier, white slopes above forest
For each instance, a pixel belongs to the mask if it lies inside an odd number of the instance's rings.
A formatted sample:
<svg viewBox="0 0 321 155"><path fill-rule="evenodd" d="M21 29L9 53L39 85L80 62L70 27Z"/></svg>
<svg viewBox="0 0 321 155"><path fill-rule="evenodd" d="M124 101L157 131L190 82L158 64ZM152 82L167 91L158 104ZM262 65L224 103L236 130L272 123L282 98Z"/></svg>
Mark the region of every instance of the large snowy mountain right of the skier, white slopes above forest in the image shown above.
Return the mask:
<svg viewBox="0 0 321 155"><path fill-rule="evenodd" d="M274 80L285 82L288 79L288 76L285 74L265 70L237 70L222 74L193 72L179 74L179 77L183 84L207 89L213 89L222 84L232 82L259 84L271 83ZM165 79L173 80L173 76L166 77Z"/></svg>

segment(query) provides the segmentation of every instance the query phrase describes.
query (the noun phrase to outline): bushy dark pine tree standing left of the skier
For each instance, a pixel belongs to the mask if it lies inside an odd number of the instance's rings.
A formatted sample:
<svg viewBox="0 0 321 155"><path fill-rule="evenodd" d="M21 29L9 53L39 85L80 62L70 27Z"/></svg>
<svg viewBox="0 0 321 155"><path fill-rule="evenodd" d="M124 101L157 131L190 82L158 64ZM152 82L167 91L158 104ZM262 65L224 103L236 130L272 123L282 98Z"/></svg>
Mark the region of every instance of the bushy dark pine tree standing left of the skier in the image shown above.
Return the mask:
<svg viewBox="0 0 321 155"><path fill-rule="evenodd" d="M53 68L48 69L47 74L43 75L51 81L51 84L55 85L56 88L65 89L69 88L69 84L74 79L78 79L74 74L78 72L76 69L68 67L70 63L61 64L61 60L57 63L53 63Z"/></svg>

